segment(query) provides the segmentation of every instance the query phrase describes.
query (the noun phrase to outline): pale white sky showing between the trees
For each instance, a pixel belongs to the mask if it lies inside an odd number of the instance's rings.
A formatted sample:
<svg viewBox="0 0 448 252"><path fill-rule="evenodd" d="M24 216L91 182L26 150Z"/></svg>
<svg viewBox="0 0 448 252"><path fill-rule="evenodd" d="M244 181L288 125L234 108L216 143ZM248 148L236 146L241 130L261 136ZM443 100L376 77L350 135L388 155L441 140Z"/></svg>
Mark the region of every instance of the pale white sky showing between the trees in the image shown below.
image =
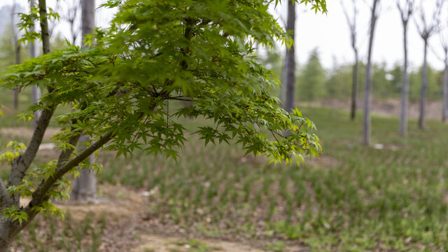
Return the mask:
<svg viewBox="0 0 448 252"><path fill-rule="evenodd" d="M15 0L23 6L27 6L27 0ZM71 0L65 0L67 3ZM106 0L97 0L97 3ZM342 0L347 3L349 8L350 0ZM359 52L362 60L366 59L367 42L369 32L370 13L369 6L366 1L359 1L360 15L358 15L358 43ZM429 6L433 0L425 1L425 6ZM370 1L368 1L370 3ZM395 7L394 0L383 0L381 6L381 14L377 22L377 29L375 30L373 60L374 62L386 62L388 67L394 64L401 64L402 62L402 24L400 14ZM0 0L0 7L10 5L13 0ZM55 0L49 0L48 6L53 6ZM64 6L64 1L61 5ZM272 12L274 15L282 15L286 20L286 1L283 1L283 6L277 6ZM297 24L296 24L296 58L299 64L304 64L307 61L309 52L314 48L318 48L321 57L321 63L325 68L332 67L335 62L337 64L353 62L353 52L351 50L351 42L349 35L349 28L346 24L344 13L340 1L327 1L328 14L315 14L314 11L307 10L303 4L297 6ZM427 8L427 7L425 7ZM444 8L448 10L448 6ZM112 12L104 9L97 10L97 25L106 26L108 20L111 18ZM416 15L414 15L416 18ZM281 22L281 21L279 21ZM69 32L69 25L62 20L56 27L56 30L67 38L71 37ZM57 32L56 31L56 32ZM446 33L447 31L445 31ZM443 63L435 56L433 51L441 53L440 38L435 34L430 39L430 45L433 50L428 51L428 61L437 69L442 69ZM416 31L414 20L409 22L409 62L412 68L420 66L423 62L423 42Z"/></svg>

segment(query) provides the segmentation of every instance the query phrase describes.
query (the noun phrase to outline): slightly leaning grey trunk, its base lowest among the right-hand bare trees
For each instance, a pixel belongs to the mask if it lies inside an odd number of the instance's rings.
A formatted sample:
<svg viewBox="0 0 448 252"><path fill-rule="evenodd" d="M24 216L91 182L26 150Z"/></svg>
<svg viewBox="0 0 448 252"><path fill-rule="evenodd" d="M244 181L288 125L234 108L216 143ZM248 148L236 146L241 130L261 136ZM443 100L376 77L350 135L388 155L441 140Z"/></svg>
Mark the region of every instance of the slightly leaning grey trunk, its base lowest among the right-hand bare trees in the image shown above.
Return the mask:
<svg viewBox="0 0 448 252"><path fill-rule="evenodd" d="M364 90L364 115L363 115L363 144L368 146L370 144L370 106L372 106L372 49L375 25L377 23L377 4L379 0L373 0L372 18L370 20L370 37L369 50L367 53L367 66L365 69L365 90Z"/></svg>

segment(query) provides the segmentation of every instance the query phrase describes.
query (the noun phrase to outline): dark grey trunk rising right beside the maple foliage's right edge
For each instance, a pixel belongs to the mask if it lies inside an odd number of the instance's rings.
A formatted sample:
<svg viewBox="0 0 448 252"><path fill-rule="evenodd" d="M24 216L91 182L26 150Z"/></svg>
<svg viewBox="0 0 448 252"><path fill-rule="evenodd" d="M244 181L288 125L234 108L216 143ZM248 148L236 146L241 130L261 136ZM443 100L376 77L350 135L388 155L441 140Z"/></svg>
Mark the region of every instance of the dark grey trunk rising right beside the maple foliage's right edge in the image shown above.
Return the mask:
<svg viewBox="0 0 448 252"><path fill-rule="evenodd" d="M290 37L293 40L293 45L290 48L286 48L286 80L283 83L283 85L286 85L285 110L291 112L294 109L295 102L295 4L293 0L288 1L286 30L291 32Z"/></svg>

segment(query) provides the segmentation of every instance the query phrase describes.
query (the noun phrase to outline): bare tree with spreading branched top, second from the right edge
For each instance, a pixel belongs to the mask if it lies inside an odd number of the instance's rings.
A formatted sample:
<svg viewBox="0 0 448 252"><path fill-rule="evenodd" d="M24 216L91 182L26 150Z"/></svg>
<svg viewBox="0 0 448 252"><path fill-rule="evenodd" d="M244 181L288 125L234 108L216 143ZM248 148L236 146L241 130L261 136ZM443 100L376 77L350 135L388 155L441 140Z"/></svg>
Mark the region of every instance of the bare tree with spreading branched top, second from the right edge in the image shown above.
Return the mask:
<svg viewBox="0 0 448 252"><path fill-rule="evenodd" d="M419 116L419 128L425 128L425 109L426 109L426 94L428 92L428 40L430 36L432 36L435 31L437 31L437 17L440 15L440 8L442 6L443 0L435 1L435 8L431 15L431 21L428 21L428 18L425 13L425 8L420 6L420 15L419 21L416 22L417 29L419 31L419 35L421 39L423 39L423 69L421 73L421 98L420 98L420 116ZM423 4L423 3L422 3ZM429 6L425 1L424 6Z"/></svg>

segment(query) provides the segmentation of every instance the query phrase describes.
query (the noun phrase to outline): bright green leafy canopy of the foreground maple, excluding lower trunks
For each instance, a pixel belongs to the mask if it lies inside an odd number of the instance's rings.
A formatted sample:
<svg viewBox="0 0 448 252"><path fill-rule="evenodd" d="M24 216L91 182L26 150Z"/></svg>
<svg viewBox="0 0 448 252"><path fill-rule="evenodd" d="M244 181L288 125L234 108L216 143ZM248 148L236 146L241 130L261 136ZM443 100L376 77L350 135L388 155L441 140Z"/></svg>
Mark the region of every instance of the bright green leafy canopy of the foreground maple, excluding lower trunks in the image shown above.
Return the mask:
<svg viewBox="0 0 448 252"><path fill-rule="evenodd" d="M52 52L3 77L5 87L51 90L27 110L30 114L50 104L73 102L80 108L59 120L66 125L59 141L73 132L112 131L116 137L108 149L118 155L143 148L176 158L185 139L175 119L203 116L216 123L197 131L206 143L237 137L248 152L286 162L320 151L316 136L301 127L307 120L281 110L269 95L278 83L251 56L253 41L274 46L276 39L287 39L262 1L130 0L111 29L97 34L97 48ZM167 111L169 100L186 96L193 106ZM272 141L255 126L268 128L274 139L285 129L291 134Z"/></svg>

